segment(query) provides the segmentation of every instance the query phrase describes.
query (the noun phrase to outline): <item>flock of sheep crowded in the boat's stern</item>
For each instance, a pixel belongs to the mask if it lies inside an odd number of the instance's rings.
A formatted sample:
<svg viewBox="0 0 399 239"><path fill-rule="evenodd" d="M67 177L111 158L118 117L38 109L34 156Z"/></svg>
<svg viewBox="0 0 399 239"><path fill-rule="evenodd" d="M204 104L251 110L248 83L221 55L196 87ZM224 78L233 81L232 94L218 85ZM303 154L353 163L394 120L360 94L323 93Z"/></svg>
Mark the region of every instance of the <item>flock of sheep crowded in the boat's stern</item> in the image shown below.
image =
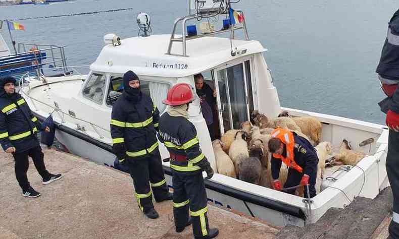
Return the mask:
<svg viewBox="0 0 399 239"><path fill-rule="evenodd" d="M343 140L339 152L332 157L333 147L330 142L320 142L322 124L312 116L291 117L283 111L278 117L269 118L255 110L251 114L251 122L241 123L240 130L227 131L220 140L213 141L216 165L220 174L238 178L239 180L272 188L271 154L268 142L271 132L277 127L288 129L309 140L315 146L319 158L317 183L323 179L324 169L334 165L356 165L366 155L351 149ZM284 185L288 168L280 168L279 180ZM316 187L317 193L320 187ZM303 197L303 187L297 189L297 195Z"/></svg>

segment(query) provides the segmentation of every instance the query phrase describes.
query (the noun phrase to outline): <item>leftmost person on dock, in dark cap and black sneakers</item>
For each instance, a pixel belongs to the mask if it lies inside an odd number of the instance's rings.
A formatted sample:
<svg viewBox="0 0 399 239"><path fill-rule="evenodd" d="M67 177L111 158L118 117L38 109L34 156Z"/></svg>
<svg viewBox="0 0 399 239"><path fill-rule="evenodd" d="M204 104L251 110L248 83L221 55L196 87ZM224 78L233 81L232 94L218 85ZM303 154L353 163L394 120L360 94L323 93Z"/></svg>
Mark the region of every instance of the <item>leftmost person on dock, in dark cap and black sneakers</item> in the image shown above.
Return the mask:
<svg viewBox="0 0 399 239"><path fill-rule="evenodd" d="M49 173L44 164L36 132L41 129L37 118L32 114L25 99L15 92L16 80L12 77L0 79L0 144L6 153L13 155L15 175L24 197L36 198L41 194L29 184L26 172L29 168L28 157L33 159L36 170L42 177L43 184L59 180L61 174ZM49 132L49 128L44 129Z"/></svg>

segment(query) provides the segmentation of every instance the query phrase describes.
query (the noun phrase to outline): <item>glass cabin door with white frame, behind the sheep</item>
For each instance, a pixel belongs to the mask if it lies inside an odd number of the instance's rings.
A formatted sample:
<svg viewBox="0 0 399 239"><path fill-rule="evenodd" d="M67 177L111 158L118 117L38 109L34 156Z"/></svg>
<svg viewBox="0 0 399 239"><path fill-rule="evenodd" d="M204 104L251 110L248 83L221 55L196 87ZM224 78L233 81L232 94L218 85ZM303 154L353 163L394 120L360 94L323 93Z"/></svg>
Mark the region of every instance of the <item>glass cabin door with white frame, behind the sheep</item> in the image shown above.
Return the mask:
<svg viewBox="0 0 399 239"><path fill-rule="evenodd" d="M213 73L223 135L228 130L240 129L240 124L249 121L254 110L250 60L215 69Z"/></svg>

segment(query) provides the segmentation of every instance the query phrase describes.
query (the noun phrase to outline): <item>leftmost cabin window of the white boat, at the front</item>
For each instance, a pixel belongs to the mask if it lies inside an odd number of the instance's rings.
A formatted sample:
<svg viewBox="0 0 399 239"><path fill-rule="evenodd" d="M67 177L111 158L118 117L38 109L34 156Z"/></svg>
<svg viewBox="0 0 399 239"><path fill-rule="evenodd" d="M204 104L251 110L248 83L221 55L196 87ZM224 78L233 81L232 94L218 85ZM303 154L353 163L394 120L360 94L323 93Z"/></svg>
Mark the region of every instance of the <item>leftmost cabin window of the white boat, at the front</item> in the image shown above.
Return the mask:
<svg viewBox="0 0 399 239"><path fill-rule="evenodd" d="M83 96L101 104L103 102L104 90L105 90L106 77L102 74L93 73L86 83L86 87L83 90Z"/></svg>

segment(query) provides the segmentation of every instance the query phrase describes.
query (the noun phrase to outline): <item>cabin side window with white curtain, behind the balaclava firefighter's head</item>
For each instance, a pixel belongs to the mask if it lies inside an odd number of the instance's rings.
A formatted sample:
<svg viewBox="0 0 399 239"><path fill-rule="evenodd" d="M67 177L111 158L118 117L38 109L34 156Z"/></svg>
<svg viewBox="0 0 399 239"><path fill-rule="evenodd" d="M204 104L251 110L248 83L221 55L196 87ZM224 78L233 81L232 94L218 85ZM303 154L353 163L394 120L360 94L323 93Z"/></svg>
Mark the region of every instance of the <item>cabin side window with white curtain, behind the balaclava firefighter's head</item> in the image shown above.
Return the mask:
<svg viewBox="0 0 399 239"><path fill-rule="evenodd" d="M166 105L162 100L166 99L170 85L154 81L140 79L140 89L143 94L150 96L160 112L163 112ZM111 77L110 87L108 90L107 105L112 106L115 101L122 95L123 78Z"/></svg>

